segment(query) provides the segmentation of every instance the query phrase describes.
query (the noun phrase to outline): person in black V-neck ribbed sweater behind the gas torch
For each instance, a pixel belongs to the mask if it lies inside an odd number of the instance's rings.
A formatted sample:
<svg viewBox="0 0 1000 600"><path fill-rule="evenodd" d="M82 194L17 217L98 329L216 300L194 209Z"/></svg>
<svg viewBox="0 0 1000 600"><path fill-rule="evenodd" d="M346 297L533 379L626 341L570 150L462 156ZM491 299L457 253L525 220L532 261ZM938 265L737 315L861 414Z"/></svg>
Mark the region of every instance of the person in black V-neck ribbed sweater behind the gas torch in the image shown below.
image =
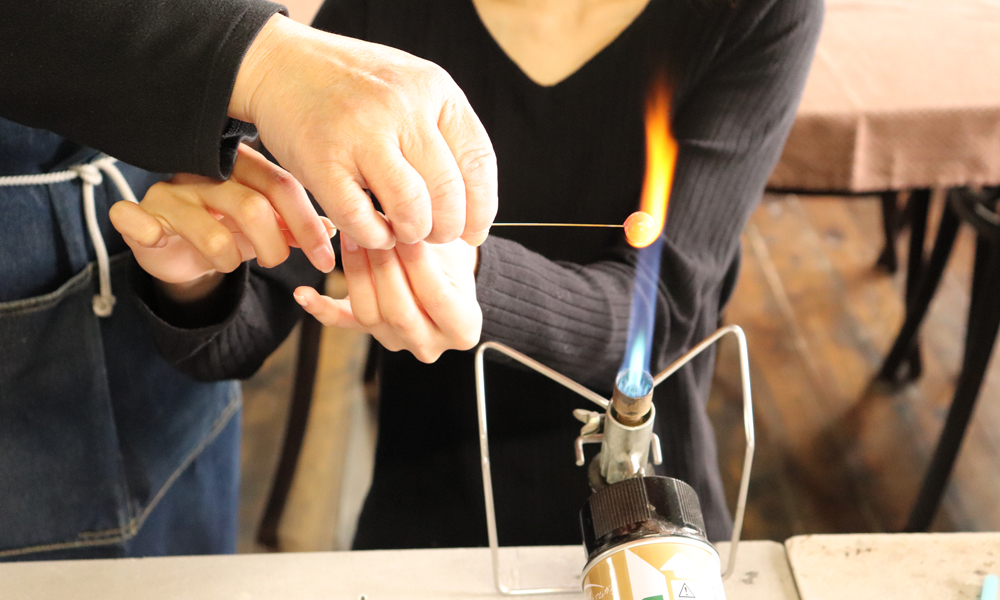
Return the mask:
<svg viewBox="0 0 1000 600"><path fill-rule="evenodd" d="M643 181L646 95L666 74L680 150L662 234L655 373L715 329L732 293L740 232L794 119L822 13L821 0L327 0L314 25L422 56L454 77L497 151L500 221L624 221ZM482 339L609 394L636 270L621 232L509 230L475 258L466 265L478 265ZM363 261L344 263L353 295ZM164 342L184 368L224 377L270 351L213 350L272 327L272 315L245 308L259 298L239 285L238 313ZM296 293L320 320L349 321L349 303ZM378 317L366 324L384 329ZM379 360L375 476L355 547L485 544L471 353L445 352L432 365L405 352ZM703 354L659 386L655 402L662 472L695 488L718 540L732 525L705 411L712 370ZM505 363L490 364L487 379L500 542L579 542L588 487L572 464L579 425L570 412L585 401Z"/></svg>

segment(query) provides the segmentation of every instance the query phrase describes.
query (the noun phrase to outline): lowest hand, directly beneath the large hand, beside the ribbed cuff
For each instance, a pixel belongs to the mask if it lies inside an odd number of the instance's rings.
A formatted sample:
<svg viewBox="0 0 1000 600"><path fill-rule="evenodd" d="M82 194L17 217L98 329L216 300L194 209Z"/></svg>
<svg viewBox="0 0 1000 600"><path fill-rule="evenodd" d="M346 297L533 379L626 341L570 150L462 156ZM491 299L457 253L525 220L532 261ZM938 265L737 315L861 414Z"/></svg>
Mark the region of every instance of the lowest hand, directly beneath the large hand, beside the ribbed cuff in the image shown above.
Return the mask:
<svg viewBox="0 0 1000 600"><path fill-rule="evenodd" d="M348 297L333 300L309 287L295 299L324 325L362 329L388 350L409 350L431 363L445 350L479 343L483 313L476 301L478 249L448 244L397 244L365 250L341 234Z"/></svg>

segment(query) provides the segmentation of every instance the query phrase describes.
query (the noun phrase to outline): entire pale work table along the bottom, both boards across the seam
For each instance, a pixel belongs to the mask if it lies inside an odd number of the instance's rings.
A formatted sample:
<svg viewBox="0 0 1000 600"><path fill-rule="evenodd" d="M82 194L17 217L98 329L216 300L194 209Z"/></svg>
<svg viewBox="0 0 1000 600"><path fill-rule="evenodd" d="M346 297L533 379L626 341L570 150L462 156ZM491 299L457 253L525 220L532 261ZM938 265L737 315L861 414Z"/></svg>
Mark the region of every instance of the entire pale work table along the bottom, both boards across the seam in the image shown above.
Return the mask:
<svg viewBox="0 0 1000 600"><path fill-rule="evenodd" d="M728 544L719 544L725 560ZM505 548L513 587L577 586L577 546ZM728 600L978 598L1000 533L808 535L743 542ZM794 573L794 579L793 579ZM797 586L797 591L796 591ZM488 600L489 551L244 554L0 564L0 598L35 600ZM547 596L580 599L582 594Z"/></svg>

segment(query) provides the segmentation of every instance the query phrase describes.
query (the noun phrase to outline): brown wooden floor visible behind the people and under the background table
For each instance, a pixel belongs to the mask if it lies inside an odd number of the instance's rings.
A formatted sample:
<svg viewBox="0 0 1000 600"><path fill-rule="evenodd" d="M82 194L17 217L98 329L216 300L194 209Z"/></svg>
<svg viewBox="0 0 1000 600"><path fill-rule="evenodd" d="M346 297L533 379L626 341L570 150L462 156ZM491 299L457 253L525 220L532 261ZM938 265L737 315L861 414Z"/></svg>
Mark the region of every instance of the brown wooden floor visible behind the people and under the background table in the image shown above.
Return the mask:
<svg viewBox="0 0 1000 600"><path fill-rule="evenodd" d="M932 205L935 216L940 199ZM933 239L932 222L928 239ZM725 320L750 344L757 454L745 537L901 527L951 400L965 334L972 244L959 237L922 330L923 377L870 385L902 320L901 273L874 268L882 243L874 198L768 196L743 237L743 268ZM899 240L905 259L908 240ZM242 551L277 460L292 348L246 386ZM329 368L338 368L331 365ZM732 503L743 433L735 344L724 343L710 404ZM937 530L1000 530L1000 359L994 358Z"/></svg>

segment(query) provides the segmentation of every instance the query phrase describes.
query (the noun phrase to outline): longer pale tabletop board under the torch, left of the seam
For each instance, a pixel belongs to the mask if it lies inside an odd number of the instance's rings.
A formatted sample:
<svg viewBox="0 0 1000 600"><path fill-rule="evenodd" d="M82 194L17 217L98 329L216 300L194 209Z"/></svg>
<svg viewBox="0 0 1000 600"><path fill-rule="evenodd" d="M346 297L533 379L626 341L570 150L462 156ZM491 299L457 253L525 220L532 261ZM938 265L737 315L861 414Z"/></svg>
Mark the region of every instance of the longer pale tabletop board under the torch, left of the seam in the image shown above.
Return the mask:
<svg viewBox="0 0 1000 600"><path fill-rule="evenodd" d="M725 559L728 544L719 545ZM578 586L586 557L577 546L507 548L512 586ZM743 542L729 600L798 598L785 550ZM487 600L489 551L397 550L244 554L0 564L0 598L35 600ZM582 598L582 594L547 596Z"/></svg>

